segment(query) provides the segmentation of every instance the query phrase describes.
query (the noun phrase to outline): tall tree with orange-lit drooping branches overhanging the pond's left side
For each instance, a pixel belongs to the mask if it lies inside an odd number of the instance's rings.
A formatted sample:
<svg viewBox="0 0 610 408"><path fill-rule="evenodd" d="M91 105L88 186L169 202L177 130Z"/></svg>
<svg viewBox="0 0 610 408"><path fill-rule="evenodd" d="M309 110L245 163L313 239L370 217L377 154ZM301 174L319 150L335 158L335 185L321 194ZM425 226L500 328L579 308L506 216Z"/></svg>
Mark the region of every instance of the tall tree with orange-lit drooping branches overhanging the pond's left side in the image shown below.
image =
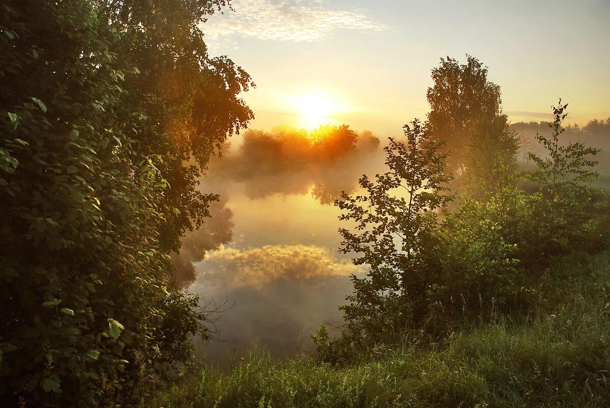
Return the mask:
<svg viewBox="0 0 610 408"><path fill-rule="evenodd" d="M210 58L201 27L225 0L102 2L101 12L120 35L110 44L126 74L124 103L154 118L135 128L140 154L162 154L159 166L171 186L163 196L163 249L178 250L187 230L209 216L214 195L198 190L210 154L239 133L253 113L239 98L254 84L227 57ZM131 114L131 112L126 112Z"/></svg>

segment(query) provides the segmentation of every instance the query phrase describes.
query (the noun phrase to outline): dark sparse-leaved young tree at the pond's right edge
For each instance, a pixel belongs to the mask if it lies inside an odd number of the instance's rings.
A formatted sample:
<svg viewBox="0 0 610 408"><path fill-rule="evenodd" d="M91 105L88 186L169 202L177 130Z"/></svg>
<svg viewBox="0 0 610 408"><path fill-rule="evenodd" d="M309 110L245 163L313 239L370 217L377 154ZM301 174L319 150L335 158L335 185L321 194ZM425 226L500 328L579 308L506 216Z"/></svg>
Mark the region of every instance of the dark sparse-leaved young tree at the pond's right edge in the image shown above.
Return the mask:
<svg viewBox="0 0 610 408"><path fill-rule="evenodd" d="M437 212L450 200L442 143L417 120L404 129L406 143L390 138L384 148L389 171L376 181L363 176L359 184L365 194L344 193L336 203L346 211L340 220L353 221L356 229L339 230L340 251L354 252L356 265L370 266L366 277L351 277L354 295L342 309L351 331L371 336L397 332L423 315L434 279Z"/></svg>

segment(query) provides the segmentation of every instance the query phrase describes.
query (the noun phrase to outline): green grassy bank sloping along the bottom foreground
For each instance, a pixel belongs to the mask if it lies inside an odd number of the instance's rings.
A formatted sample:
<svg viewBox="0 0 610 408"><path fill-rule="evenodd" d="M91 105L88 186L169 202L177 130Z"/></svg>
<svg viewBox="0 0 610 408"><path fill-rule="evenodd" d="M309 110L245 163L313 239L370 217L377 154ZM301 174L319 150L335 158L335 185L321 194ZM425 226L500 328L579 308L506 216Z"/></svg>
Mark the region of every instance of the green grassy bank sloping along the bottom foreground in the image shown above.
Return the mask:
<svg viewBox="0 0 610 408"><path fill-rule="evenodd" d="M275 360L254 348L228 367L193 366L144 407L608 407L610 251L557 259L536 312L497 317L445 342Z"/></svg>

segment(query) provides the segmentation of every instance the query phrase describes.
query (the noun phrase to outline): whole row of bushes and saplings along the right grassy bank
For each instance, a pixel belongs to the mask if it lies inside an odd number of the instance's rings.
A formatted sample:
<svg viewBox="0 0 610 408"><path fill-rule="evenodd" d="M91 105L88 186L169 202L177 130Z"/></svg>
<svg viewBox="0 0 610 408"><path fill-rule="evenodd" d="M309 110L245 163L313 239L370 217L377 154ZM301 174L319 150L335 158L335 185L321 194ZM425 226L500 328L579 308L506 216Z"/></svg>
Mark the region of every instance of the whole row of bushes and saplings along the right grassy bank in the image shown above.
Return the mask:
<svg viewBox="0 0 610 408"><path fill-rule="evenodd" d="M566 107L553 108L551 138L539 136L548 154L531 154L538 170L515 174L497 162L492 179L479 181L475 196L461 195L453 212L434 134L414 123L406 144L390 140L389 172L376 182L364 176L364 194L337 202L341 219L355 221L355 232L339 230L341 251L370 265L367 276L352 277L343 342L373 346L412 329L434 337L460 318L528 310L552 256L603 247L604 201L590 187L598 150L559 145ZM517 187L523 174L538 191Z"/></svg>

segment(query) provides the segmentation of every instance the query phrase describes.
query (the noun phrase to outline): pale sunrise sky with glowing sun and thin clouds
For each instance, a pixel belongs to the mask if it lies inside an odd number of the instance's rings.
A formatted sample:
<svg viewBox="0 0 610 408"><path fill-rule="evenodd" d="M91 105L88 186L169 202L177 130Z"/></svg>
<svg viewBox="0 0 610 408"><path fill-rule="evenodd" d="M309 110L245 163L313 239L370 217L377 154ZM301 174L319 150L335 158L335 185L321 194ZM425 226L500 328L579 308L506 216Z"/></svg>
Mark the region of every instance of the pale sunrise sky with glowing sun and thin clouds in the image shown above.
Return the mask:
<svg viewBox="0 0 610 408"><path fill-rule="evenodd" d="M430 70L473 55L512 122L610 116L610 0L233 0L201 26L256 83L249 127L349 124L380 135L428 112Z"/></svg>

